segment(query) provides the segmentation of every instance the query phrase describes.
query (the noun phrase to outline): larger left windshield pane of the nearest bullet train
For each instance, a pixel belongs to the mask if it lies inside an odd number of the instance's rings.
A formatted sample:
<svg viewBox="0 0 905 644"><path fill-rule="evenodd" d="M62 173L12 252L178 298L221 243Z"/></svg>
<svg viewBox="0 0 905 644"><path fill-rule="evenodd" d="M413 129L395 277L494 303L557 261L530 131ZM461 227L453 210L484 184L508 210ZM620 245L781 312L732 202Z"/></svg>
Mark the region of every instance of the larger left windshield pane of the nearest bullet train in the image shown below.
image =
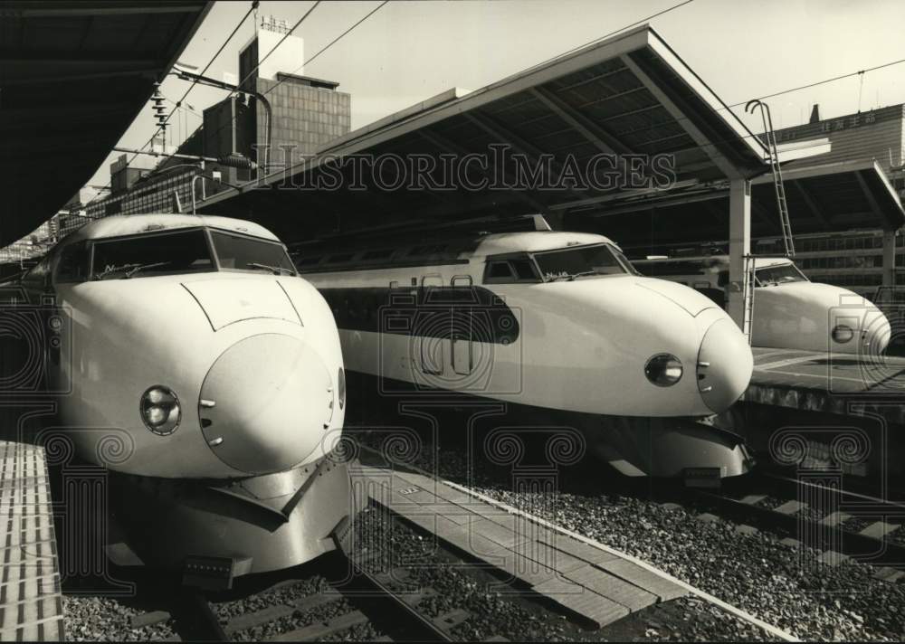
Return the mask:
<svg viewBox="0 0 905 644"><path fill-rule="evenodd" d="M205 270L216 270L216 267L205 232L200 228L94 242L93 279L144 278Z"/></svg>

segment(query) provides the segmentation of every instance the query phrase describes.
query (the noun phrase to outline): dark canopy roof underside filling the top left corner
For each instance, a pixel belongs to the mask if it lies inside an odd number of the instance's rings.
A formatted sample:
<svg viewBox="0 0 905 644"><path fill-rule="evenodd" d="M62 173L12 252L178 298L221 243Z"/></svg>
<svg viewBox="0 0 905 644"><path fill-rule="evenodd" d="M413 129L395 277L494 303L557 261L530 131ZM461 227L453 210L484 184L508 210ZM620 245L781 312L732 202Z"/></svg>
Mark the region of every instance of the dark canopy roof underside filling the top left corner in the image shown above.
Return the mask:
<svg viewBox="0 0 905 644"><path fill-rule="evenodd" d="M210 5L0 1L0 245L46 222L90 179Z"/></svg>

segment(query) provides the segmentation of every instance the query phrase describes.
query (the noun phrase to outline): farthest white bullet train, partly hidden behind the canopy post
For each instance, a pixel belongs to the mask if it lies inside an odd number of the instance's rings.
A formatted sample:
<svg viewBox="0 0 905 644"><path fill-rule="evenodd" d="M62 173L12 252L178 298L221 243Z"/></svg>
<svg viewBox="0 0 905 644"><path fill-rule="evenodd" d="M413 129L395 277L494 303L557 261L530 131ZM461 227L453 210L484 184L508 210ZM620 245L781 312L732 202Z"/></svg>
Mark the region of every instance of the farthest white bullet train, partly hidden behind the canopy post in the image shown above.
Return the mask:
<svg viewBox="0 0 905 644"><path fill-rule="evenodd" d="M751 344L780 349L880 355L890 322L872 302L848 289L807 279L792 260L757 258ZM725 307L729 256L635 260L644 275L698 289Z"/></svg>

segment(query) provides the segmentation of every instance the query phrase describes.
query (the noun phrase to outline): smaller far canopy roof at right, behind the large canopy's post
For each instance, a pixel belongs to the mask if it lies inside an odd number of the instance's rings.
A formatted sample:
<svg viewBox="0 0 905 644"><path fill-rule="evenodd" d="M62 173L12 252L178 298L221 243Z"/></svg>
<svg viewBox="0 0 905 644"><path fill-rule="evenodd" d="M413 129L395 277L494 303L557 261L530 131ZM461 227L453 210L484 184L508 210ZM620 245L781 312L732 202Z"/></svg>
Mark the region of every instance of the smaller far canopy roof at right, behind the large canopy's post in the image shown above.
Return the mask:
<svg viewBox="0 0 905 644"><path fill-rule="evenodd" d="M899 195L875 161L801 163L792 162L782 170L793 235L853 228L896 230L905 224ZM726 240L729 185L687 185L669 193L622 195L567 212L570 230L605 232L625 247L654 249ZM751 234L782 235L771 173L751 182Z"/></svg>

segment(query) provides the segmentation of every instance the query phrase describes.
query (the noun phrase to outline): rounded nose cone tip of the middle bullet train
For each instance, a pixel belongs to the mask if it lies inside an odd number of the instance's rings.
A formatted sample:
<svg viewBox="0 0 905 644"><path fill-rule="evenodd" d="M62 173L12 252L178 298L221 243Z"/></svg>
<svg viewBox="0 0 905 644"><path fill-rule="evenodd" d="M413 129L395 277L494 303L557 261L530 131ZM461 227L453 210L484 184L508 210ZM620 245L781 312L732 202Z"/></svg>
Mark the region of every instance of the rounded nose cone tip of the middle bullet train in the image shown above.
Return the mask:
<svg viewBox="0 0 905 644"><path fill-rule="evenodd" d="M748 388L754 369L751 347L729 318L710 325L698 352L698 391L713 412L724 412Z"/></svg>

